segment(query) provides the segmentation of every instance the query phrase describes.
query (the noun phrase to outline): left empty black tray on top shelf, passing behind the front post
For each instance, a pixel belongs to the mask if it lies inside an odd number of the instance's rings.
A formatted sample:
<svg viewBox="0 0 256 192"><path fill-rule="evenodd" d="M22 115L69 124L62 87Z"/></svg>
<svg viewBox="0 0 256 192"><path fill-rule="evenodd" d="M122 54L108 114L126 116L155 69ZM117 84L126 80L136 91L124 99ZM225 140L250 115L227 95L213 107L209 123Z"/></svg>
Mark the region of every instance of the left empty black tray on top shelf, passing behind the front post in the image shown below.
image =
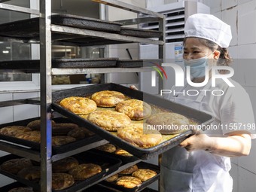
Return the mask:
<svg viewBox="0 0 256 192"><path fill-rule="evenodd" d="M69 14L51 16L51 23L60 26L70 26L80 29L92 29L102 32L120 32L121 23L81 17ZM0 25L0 35L14 38L38 38L39 17L18 20Z"/></svg>

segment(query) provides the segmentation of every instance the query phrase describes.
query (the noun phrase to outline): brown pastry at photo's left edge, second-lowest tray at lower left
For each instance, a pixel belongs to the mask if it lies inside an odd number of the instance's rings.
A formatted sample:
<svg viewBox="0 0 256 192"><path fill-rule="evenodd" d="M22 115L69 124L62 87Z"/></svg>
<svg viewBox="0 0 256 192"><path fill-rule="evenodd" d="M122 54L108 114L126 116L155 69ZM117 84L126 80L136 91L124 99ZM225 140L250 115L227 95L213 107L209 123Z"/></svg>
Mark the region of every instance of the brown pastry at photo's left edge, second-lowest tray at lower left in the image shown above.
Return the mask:
<svg viewBox="0 0 256 192"><path fill-rule="evenodd" d="M16 175L21 169L33 166L32 161L26 158L18 158L18 159L12 159L7 160L0 168L5 172L11 172L12 174Z"/></svg>

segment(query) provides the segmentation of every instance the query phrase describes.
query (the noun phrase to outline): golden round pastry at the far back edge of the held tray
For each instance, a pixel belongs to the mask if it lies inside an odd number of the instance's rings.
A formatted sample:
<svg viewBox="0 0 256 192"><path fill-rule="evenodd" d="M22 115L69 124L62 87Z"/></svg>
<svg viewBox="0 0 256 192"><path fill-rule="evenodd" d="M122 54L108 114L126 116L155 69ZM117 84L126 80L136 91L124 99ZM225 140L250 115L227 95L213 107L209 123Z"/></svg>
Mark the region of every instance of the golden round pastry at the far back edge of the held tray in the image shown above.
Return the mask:
<svg viewBox="0 0 256 192"><path fill-rule="evenodd" d="M118 91L102 90L93 93L91 99L96 102L98 107L114 107L118 102L122 102L125 96Z"/></svg>

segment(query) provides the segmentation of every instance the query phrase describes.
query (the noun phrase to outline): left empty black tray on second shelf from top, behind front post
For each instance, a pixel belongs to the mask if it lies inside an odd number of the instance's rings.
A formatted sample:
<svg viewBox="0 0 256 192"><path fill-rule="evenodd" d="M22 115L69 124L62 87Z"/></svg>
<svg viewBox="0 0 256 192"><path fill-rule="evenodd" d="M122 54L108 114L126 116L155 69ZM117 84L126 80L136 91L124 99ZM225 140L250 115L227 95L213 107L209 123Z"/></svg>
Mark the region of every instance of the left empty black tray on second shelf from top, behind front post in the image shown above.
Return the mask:
<svg viewBox="0 0 256 192"><path fill-rule="evenodd" d="M52 59L52 68L59 69L84 69L84 68L104 68L115 67L117 58L99 58L99 59ZM23 72L39 72L40 60L13 60L1 61L0 69L23 70Z"/></svg>

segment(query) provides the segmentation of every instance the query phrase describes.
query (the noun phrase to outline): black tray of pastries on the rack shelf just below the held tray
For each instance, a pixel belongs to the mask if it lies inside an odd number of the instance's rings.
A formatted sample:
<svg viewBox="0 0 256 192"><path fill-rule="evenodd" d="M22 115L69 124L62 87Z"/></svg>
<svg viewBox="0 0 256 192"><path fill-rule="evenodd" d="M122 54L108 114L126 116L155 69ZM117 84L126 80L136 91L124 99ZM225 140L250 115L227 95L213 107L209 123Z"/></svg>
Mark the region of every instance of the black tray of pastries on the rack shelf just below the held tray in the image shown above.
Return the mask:
<svg viewBox="0 0 256 192"><path fill-rule="evenodd" d="M12 122L12 123L4 123L4 124L0 125L0 129L5 126L12 126L12 125L26 126L32 120L37 120L37 119L39 119L39 117L26 119L26 120L18 120L18 121ZM53 118L53 120L56 121L56 123L74 123L72 120L70 120L66 117L57 117L57 118ZM40 151L40 144L37 142L31 142L31 141L27 141L25 139L18 139L18 138L14 138L11 136L3 136L3 135L0 135L0 139ZM66 145L53 146L52 153L53 154L62 154L67 151L73 151L73 150L75 150L77 148L81 148L85 145L92 144L94 142L99 142L101 140L102 140L102 137L97 136L97 135L86 137L84 139L80 139L75 142L68 143Z"/></svg>

